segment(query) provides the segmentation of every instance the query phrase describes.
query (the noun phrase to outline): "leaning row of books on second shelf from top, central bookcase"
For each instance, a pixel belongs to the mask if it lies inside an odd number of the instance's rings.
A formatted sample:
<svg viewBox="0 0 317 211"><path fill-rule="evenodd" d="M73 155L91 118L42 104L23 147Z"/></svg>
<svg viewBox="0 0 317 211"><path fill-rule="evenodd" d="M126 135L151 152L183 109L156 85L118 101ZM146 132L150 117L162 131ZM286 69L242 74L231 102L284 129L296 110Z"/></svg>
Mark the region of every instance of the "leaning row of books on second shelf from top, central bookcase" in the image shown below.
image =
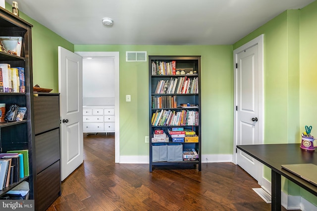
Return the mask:
<svg viewBox="0 0 317 211"><path fill-rule="evenodd" d="M198 77L178 77L170 80L160 80L155 89L157 94L197 94Z"/></svg>

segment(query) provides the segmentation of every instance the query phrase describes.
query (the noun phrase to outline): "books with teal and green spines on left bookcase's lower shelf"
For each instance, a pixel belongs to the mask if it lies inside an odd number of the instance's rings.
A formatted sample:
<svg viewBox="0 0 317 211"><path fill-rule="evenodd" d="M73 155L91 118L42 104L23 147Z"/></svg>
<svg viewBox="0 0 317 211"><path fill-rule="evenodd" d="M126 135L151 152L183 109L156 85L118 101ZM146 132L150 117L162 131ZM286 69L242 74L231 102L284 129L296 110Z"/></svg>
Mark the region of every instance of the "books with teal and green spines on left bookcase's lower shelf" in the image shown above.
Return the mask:
<svg viewBox="0 0 317 211"><path fill-rule="evenodd" d="M29 176L29 151L0 153L0 190Z"/></svg>

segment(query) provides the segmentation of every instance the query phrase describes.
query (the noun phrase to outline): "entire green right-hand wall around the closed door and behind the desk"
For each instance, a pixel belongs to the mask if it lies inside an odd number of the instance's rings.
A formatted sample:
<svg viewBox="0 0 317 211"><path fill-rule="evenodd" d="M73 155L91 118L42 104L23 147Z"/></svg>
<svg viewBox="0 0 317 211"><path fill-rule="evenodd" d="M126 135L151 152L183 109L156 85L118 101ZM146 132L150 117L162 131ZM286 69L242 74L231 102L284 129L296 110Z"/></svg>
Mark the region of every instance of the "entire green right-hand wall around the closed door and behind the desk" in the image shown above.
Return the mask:
<svg viewBox="0 0 317 211"><path fill-rule="evenodd" d="M300 143L305 125L317 127L316 11L317 1L287 10L233 44L236 49L264 34L264 143ZM270 169L264 177L270 180ZM316 196L285 178L282 187L317 205Z"/></svg>

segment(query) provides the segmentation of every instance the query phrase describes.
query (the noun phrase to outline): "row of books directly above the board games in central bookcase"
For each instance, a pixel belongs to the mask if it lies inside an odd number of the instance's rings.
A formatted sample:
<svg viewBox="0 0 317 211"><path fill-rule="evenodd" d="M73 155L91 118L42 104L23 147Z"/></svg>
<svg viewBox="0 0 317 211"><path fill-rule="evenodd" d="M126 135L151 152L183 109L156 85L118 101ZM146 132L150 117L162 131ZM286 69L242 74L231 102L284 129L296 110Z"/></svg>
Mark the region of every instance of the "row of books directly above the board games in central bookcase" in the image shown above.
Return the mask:
<svg viewBox="0 0 317 211"><path fill-rule="evenodd" d="M152 126L198 126L199 112L182 110L156 110L152 115Z"/></svg>

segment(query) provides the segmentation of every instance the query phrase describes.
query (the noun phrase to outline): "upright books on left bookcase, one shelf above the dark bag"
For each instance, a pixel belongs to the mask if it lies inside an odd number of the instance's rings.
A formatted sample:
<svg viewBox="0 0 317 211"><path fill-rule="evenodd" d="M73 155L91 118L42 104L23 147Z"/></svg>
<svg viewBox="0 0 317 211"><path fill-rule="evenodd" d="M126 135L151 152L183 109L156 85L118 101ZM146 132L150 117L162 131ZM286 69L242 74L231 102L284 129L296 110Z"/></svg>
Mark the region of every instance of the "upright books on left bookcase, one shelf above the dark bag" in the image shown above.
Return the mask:
<svg viewBox="0 0 317 211"><path fill-rule="evenodd" d="M25 92L23 67L11 67L10 64L0 64L0 92Z"/></svg>

